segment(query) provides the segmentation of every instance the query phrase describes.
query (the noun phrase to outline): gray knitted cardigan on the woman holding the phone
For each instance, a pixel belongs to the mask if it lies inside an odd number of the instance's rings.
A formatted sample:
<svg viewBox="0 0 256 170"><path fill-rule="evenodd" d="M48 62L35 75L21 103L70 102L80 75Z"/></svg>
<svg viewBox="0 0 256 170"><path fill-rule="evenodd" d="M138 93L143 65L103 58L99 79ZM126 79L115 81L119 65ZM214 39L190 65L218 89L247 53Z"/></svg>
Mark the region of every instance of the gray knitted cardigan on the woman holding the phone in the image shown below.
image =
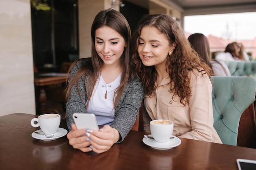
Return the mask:
<svg viewBox="0 0 256 170"><path fill-rule="evenodd" d="M84 64L88 59L80 59L72 68L70 72L70 79L80 68L81 64ZM86 94L86 81L90 81L88 76L83 75L79 80L79 91L81 98L77 91L77 85L72 86L69 99L66 104L66 121L69 130L72 130L71 124L74 123L72 118L73 113L85 113L86 102L88 96ZM117 107L115 108L115 119L110 125L112 128L116 128L121 135L121 139L117 142L120 143L124 140L128 132L130 132L133 124L137 120L139 108L141 106L142 99L144 97L142 83L136 77L132 80L128 80L123 95L121 96Z"/></svg>

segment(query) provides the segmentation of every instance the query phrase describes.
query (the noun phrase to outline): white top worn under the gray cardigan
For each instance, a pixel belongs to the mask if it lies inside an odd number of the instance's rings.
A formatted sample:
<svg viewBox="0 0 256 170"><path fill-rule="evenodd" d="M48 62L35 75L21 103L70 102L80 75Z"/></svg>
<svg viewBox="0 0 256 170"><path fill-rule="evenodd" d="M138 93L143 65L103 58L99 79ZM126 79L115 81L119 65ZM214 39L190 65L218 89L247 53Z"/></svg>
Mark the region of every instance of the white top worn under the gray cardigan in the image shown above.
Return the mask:
<svg viewBox="0 0 256 170"><path fill-rule="evenodd" d="M88 105L87 113L94 113L97 119L97 123L99 125L110 125L115 118L113 98L115 90L119 86L120 81L121 74L109 84L106 84L106 82L100 75L97 83L94 86L94 91Z"/></svg>

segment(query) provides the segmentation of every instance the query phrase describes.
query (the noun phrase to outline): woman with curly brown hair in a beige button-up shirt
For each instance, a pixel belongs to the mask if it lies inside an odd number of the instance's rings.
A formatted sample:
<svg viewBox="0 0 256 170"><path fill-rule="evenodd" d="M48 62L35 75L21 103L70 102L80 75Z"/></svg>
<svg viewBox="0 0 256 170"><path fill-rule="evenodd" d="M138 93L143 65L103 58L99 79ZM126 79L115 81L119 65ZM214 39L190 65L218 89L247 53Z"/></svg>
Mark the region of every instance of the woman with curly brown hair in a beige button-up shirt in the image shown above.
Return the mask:
<svg viewBox="0 0 256 170"><path fill-rule="evenodd" d="M213 128L209 78L213 72L168 15L144 16L135 30L132 58L144 87L144 131L149 122L174 122L177 137L222 143Z"/></svg>

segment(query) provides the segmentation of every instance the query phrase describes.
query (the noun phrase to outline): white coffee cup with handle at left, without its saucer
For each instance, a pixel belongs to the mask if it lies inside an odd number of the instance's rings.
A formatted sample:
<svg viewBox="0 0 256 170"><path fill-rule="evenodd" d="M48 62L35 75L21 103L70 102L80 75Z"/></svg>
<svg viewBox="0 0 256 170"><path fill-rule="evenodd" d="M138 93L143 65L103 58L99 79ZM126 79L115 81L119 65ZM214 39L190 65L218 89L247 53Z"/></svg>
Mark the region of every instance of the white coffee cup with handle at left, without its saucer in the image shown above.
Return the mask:
<svg viewBox="0 0 256 170"><path fill-rule="evenodd" d="M37 122L37 124L35 124L35 122ZM33 118L30 123L34 128L40 126L41 130L46 135L51 135L57 132L61 124L61 115L54 113L40 115L38 118Z"/></svg>

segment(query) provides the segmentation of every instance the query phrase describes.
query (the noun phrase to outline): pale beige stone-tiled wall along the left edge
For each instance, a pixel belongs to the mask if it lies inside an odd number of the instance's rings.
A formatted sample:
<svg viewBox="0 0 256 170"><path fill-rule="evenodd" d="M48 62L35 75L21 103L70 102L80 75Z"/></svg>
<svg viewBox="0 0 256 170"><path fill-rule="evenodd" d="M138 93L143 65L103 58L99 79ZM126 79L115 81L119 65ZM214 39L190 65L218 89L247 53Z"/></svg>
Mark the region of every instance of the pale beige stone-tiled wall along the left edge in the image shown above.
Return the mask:
<svg viewBox="0 0 256 170"><path fill-rule="evenodd" d="M0 116L36 114L30 0L2 0L0 21Z"/></svg>

